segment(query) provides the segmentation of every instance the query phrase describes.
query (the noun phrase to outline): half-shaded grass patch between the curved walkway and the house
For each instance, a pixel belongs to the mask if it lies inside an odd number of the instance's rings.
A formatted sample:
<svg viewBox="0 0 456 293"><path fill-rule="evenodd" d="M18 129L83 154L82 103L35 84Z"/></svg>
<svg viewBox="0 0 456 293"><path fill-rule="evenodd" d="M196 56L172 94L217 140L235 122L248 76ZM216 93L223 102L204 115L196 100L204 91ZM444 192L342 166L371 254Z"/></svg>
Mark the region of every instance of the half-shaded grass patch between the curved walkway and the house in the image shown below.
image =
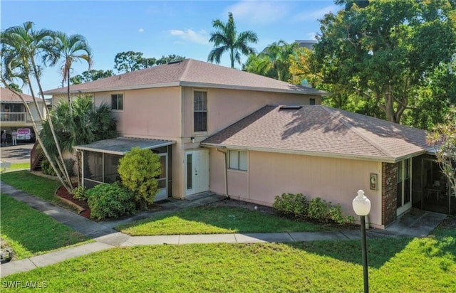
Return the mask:
<svg viewBox="0 0 456 293"><path fill-rule="evenodd" d="M128 235L179 235L335 230L314 223L289 220L247 208L198 207L140 220L116 229Z"/></svg>

